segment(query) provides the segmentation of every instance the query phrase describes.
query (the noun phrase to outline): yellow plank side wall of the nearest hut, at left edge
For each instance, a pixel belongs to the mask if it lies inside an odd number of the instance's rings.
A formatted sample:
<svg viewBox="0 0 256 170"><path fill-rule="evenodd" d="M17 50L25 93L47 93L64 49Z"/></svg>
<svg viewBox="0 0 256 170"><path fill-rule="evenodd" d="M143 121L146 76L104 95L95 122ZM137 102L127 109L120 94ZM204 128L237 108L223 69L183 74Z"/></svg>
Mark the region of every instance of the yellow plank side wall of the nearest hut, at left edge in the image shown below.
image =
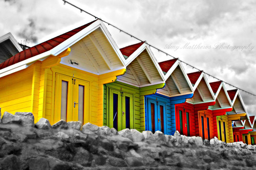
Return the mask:
<svg viewBox="0 0 256 170"><path fill-rule="evenodd" d="M0 107L2 112L32 112L31 95L33 65L0 78Z"/></svg>

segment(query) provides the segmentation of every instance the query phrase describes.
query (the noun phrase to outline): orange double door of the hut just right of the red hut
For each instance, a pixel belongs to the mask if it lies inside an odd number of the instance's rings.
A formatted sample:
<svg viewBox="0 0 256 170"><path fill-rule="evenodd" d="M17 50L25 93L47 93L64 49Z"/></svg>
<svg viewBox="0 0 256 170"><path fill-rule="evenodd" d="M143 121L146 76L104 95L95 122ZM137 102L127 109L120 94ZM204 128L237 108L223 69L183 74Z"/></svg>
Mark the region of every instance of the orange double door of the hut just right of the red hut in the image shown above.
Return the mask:
<svg viewBox="0 0 256 170"><path fill-rule="evenodd" d="M211 117L207 111L199 112L199 129L200 136L204 139L210 140L211 138Z"/></svg>

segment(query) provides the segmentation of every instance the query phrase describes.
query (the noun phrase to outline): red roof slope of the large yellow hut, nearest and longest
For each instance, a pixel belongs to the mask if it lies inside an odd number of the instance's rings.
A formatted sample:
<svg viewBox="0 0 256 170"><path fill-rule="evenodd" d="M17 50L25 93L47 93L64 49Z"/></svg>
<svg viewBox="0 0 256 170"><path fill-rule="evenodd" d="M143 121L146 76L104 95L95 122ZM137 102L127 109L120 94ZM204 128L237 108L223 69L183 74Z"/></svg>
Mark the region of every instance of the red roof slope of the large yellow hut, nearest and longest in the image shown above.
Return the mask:
<svg viewBox="0 0 256 170"><path fill-rule="evenodd" d="M8 67L10 65L16 64L20 61L24 61L28 58L37 56L41 53L45 53L49 50L51 50L52 48L54 48L55 46L59 45L60 43L62 43L63 41L69 39L70 37L72 37L73 35L75 35L76 33L80 32L81 30L83 30L84 28L90 26L93 22L95 22L96 20L87 23L86 25L83 25L81 27L78 27L74 30L71 30L65 34L61 34L55 38L52 38L48 41L42 42L40 44L37 44L31 48L28 48L14 56L12 56L11 58L9 58L8 60L6 60L5 62L0 64L0 69L3 69L5 67Z"/></svg>

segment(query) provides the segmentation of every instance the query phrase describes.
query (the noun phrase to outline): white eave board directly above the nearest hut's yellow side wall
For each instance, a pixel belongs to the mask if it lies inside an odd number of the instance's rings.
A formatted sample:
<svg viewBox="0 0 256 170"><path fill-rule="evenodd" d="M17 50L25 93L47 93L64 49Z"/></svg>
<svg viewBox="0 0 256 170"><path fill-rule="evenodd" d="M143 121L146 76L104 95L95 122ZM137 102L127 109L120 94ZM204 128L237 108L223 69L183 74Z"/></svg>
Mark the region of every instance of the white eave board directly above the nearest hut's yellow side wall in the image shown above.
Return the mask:
<svg viewBox="0 0 256 170"><path fill-rule="evenodd" d="M15 68L17 68L17 67L20 67L20 66L23 66L23 65L28 65L29 63L35 62L37 60L40 60L40 59L45 58L45 57L50 56L50 55L51 55L51 52L47 51L45 53L41 53L41 54L39 54L37 56L28 58L26 60L20 61L18 63L13 64L13 65L10 65L10 66L8 66L6 68L0 69L0 77L3 77L2 74L7 76L7 75L13 73L13 71L9 71L9 70L16 70ZM25 69L25 67L20 67L20 68ZM8 72L8 74L7 74L7 72ZM14 72L16 72L16 71L14 71Z"/></svg>

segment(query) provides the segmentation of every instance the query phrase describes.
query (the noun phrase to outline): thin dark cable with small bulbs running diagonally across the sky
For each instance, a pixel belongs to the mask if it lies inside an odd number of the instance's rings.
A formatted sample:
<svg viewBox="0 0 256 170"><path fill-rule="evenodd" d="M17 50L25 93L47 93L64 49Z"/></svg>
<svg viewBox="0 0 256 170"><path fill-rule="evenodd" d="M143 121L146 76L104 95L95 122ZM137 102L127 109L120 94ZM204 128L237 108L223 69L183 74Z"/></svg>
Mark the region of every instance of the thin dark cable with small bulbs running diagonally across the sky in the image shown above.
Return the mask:
<svg viewBox="0 0 256 170"><path fill-rule="evenodd" d="M62 1L64 2L64 5L67 3L67 4L71 5L71 6L73 6L73 7L77 8L77 9L79 9L80 12L85 12L85 13L87 13L87 14L93 16L95 19L99 19L99 20L101 20L102 22L105 22L106 24L108 24L109 26L114 27L115 29L119 30L120 32L123 32L123 33L125 33L125 34L131 36L132 38L135 38L135 39L137 39L137 40L139 40L139 41L141 41L141 42L146 43L146 44L149 45L150 47L153 47L153 48L155 48L156 50L158 50L158 52L164 53L166 56L173 57L174 59L177 59L177 60L179 60L180 62L182 62L182 63L184 63L184 64L186 64L186 65L188 65L188 66L190 66L190 67L192 67L192 68L195 68L195 69L201 71L201 69L199 69L199 68L197 68L197 67L195 67L195 66L193 66L193 65L191 65L191 64L188 64L187 62L184 62L184 61L180 60L179 58L176 58L176 57L174 57L174 56L172 56L172 55L170 55L170 54L168 54L168 53L166 53L166 52L160 50L159 48L155 47L154 45L151 45L151 44L149 44L149 43L147 43L147 42L145 42L145 41L143 41L143 40L141 40L141 39L139 39L139 38L133 36L132 34L129 34L129 33L125 32L125 31L123 31L122 29L119 29L118 27L114 26L112 23L109 23L109 22L107 22L107 21L105 21L105 20L103 20L103 19L101 19L101 18L95 16L95 15L91 14L90 12L84 11L83 9L81 9L81 8L79 8L79 7L77 7L77 6L73 5L73 4L71 4L71 3L69 3L69 2L66 1L66 0L62 0ZM204 72L204 71L203 71L203 72ZM204 72L204 74L206 74L206 75L208 75L209 77L212 77L212 78L214 78L214 79L217 79L217 80L219 80L219 81L222 81L223 83L226 83L227 85L229 85L229 86L231 86L231 87L237 88L237 89L239 89L239 90L241 90L241 91L243 91L243 92L246 92L246 93L248 93L248 94L251 94L251 95L253 95L253 96L256 96L255 94L253 94L253 93L251 93L251 92L248 92L248 91L246 91L246 90L243 90L243 89L241 89L241 88L238 88L237 86L234 86L234 85L232 85L232 84L230 84L230 83L227 83L227 82L225 82L225 81L223 81L223 80L220 80L220 79L218 79L217 77L208 74L207 72Z"/></svg>

